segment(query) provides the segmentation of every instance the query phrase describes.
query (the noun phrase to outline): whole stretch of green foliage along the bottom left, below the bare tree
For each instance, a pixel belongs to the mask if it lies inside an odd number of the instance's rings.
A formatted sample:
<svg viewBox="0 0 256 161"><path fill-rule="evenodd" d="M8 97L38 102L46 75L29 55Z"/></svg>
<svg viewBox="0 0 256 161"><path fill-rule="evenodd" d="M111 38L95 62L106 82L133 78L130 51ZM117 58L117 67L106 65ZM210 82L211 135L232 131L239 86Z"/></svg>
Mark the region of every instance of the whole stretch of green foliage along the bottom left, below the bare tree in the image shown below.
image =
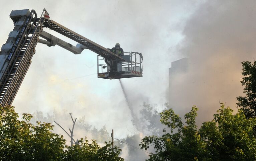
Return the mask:
<svg viewBox="0 0 256 161"><path fill-rule="evenodd" d="M81 139L80 145L67 146L62 135L52 132L51 123L33 125L30 114L23 114L20 121L14 109L0 108L0 160L123 160L121 149L112 149L110 142L100 147L96 140L90 144Z"/></svg>

